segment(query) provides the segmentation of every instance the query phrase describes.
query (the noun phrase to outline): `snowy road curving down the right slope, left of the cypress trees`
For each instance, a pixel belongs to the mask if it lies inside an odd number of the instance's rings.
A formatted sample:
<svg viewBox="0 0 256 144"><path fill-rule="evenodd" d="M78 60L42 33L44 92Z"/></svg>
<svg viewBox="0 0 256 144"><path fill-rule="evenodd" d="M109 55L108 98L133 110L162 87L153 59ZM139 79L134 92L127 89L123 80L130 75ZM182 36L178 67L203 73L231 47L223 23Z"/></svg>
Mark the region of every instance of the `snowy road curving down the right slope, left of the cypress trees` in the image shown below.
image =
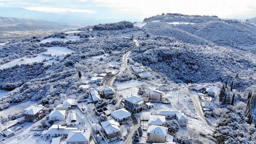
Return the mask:
<svg viewBox="0 0 256 144"><path fill-rule="evenodd" d="M206 122L211 128L215 129L215 127L213 126L212 123L210 123L205 117L204 117L204 112L201 108L201 104L200 101L198 99L198 96L196 96L195 94L193 94L192 92L189 91L189 94L191 95L191 99L196 107L196 111L198 112L199 116L201 117L201 119Z"/></svg>

